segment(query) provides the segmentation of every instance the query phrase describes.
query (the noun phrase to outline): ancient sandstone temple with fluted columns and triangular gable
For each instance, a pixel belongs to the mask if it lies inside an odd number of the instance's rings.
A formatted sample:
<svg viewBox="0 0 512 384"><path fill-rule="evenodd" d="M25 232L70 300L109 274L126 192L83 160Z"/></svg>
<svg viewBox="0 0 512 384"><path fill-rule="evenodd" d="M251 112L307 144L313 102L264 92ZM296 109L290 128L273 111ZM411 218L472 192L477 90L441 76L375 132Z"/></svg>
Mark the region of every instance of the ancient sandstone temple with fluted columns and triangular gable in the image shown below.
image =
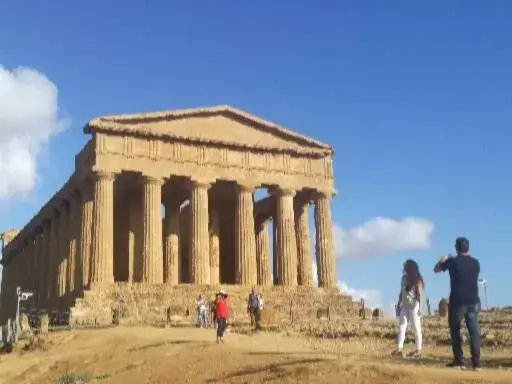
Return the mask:
<svg viewBox="0 0 512 384"><path fill-rule="evenodd" d="M310 286L313 257L319 286L335 287L329 145L229 106L100 117L84 132L69 180L4 235L2 317L16 286L37 308L122 283Z"/></svg>

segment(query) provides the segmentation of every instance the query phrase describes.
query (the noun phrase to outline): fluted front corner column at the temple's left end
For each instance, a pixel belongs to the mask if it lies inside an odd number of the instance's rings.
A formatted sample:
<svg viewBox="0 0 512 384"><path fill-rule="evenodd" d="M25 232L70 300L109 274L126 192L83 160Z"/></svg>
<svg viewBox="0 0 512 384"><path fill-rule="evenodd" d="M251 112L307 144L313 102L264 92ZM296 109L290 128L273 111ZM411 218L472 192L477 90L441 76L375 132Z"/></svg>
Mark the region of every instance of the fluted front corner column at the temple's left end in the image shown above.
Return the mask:
<svg viewBox="0 0 512 384"><path fill-rule="evenodd" d="M114 282L114 178L94 174L91 283Z"/></svg>

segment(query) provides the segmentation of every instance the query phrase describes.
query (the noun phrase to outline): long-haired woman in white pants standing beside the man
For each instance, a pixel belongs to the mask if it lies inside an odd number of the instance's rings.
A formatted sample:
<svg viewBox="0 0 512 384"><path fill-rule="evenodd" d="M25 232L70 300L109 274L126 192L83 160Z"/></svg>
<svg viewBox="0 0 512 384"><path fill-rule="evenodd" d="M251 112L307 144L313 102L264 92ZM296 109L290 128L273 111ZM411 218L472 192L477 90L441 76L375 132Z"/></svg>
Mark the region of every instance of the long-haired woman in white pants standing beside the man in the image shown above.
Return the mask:
<svg viewBox="0 0 512 384"><path fill-rule="evenodd" d="M423 296L425 282L421 276L418 263L414 260L407 260L404 263L402 286L398 296L397 317L398 317L398 349L397 355L403 356L405 332L407 325L411 323L414 330L416 350L410 354L411 357L421 357L422 333L420 304Z"/></svg>

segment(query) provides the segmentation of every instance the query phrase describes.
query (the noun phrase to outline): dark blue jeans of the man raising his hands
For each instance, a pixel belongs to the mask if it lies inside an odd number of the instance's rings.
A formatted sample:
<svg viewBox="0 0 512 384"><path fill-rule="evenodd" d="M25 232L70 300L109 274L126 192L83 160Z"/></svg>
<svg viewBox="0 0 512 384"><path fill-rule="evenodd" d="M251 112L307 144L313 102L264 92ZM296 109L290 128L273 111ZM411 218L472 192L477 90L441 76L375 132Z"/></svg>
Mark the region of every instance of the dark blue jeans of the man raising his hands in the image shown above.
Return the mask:
<svg viewBox="0 0 512 384"><path fill-rule="evenodd" d="M453 357L458 363L464 362L464 353L462 351L462 340L460 337L460 323L462 318L466 322L469 332L471 362L480 363L480 326L478 324L478 313L480 306L474 305L452 305L450 303L448 310L448 323L450 325L450 334L452 338Z"/></svg>

